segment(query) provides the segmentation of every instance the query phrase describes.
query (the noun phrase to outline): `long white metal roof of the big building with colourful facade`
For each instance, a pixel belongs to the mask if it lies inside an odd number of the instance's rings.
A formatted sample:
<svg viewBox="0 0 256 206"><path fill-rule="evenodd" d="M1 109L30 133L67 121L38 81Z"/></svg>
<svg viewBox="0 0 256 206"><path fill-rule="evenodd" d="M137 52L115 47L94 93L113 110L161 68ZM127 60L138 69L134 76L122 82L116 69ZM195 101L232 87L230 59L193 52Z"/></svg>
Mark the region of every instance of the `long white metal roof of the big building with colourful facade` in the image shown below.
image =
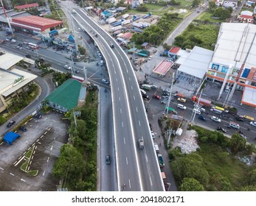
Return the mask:
<svg viewBox="0 0 256 206"><path fill-rule="evenodd" d="M241 68L249 53L244 68L255 67L256 39L253 40L255 32L254 24L222 23L212 62ZM252 49L249 51L251 44Z"/></svg>

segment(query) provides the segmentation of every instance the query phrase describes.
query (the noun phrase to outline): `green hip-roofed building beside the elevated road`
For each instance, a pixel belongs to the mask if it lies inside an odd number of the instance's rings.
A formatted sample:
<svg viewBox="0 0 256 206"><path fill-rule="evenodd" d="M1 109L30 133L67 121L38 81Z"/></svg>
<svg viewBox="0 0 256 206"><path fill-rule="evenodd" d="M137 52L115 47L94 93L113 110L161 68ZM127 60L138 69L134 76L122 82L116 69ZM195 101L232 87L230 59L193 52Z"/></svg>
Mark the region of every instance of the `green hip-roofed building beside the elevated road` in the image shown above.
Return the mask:
<svg viewBox="0 0 256 206"><path fill-rule="evenodd" d="M50 107L67 112L77 106L81 85L76 79L68 79L46 96L45 100Z"/></svg>

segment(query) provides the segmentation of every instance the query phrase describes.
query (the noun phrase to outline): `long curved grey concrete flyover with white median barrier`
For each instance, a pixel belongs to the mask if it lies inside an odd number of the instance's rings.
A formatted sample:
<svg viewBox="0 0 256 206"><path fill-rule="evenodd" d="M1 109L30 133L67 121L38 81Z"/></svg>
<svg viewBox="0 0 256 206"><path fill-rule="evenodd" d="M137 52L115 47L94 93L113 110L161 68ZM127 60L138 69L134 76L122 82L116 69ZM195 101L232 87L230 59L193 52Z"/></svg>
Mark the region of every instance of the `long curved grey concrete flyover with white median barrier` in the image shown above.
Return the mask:
<svg viewBox="0 0 256 206"><path fill-rule="evenodd" d="M108 68L119 190L125 184L126 191L165 191L145 106L130 60L117 42L84 10L74 10L73 18L94 38ZM111 43L114 49L111 49ZM139 138L144 139L143 150L138 147Z"/></svg>

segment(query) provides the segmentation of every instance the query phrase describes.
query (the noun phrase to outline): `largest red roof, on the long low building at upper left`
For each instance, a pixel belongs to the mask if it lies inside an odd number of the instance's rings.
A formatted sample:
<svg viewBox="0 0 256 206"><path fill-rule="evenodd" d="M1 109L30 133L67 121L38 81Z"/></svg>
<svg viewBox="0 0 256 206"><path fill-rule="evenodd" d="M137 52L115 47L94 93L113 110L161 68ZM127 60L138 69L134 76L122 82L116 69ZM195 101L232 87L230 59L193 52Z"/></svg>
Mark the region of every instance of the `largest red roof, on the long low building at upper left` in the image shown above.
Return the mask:
<svg viewBox="0 0 256 206"><path fill-rule="evenodd" d="M22 25L32 26L41 29L42 32L46 29L63 24L63 21L57 21L51 18L44 18L37 15L13 18L12 21L13 23L21 24L20 27L22 27Z"/></svg>

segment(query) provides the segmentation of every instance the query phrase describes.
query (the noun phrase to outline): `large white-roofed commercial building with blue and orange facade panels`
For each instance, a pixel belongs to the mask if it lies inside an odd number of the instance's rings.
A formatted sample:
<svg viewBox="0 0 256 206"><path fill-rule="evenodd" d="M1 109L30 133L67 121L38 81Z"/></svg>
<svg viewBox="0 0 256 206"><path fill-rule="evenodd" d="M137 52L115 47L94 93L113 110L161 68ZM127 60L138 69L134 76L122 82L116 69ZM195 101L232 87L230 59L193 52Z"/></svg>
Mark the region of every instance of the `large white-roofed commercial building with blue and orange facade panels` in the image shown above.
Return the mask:
<svg viewBox="0 0 256 206"><path fill-rule="evenodd" d="M256 107L256 25L221 24L207 79L222 83L225 77L225 86L243 91L242 104Z"/></svg>

